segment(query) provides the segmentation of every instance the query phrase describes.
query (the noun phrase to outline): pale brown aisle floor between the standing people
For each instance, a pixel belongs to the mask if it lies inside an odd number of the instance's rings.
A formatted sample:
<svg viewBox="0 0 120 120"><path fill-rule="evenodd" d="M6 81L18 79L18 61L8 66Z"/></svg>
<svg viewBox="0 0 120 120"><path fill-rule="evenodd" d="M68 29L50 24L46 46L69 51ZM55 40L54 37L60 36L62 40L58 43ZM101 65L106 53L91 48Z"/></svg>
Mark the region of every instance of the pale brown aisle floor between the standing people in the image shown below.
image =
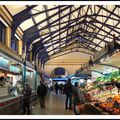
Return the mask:
<svg viewBox="0 0 120 120"><path fill-rule="evenodd" d="M46 108L41 109L38 101L34 106L33 115L74 115L74 112L65 110L65 95L52 92L46 97Z"/></svg>

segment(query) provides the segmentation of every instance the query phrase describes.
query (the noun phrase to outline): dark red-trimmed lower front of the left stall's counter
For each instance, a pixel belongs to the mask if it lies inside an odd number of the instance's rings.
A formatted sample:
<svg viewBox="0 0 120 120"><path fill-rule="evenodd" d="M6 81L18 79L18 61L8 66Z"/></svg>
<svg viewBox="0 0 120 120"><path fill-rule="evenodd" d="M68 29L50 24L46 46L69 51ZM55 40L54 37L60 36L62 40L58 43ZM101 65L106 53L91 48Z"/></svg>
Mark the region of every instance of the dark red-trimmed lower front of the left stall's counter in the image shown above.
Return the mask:
<svg viewBox="0 0 120 120"><path fill-rule="evenodd" d="M31 104L37 99L36 92L31 95ZM23 104L23 95L17 97L0 99L0 115L16 115L21 114Z"/></svg>

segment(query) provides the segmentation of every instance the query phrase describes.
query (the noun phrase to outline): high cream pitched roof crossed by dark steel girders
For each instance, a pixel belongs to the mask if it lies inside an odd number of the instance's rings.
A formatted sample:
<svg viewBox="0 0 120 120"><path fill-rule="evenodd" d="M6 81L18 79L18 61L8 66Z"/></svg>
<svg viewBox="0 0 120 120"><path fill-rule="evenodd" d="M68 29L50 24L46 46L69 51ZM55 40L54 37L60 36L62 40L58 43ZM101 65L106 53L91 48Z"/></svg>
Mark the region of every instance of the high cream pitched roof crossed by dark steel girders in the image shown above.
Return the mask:
<svg viewBox="0 0 120 120"><path fill-rule="evenodd" d="M105 44L120 40L119 5L5 5L28 51L42 62L75 51L94 56ZM44 53L44 55L43 55Z"/></svg>

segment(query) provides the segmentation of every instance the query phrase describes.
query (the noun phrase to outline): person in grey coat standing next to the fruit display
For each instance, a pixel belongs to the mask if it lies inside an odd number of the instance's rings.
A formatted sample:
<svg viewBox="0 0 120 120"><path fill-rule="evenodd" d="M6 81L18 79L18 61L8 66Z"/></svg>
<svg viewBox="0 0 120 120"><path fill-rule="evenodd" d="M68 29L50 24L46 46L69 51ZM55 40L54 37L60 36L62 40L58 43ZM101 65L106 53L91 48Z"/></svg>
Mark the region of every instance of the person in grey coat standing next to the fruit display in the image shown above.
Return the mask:
<svg viewBox="0 0 120 120"><path fill-rule="evenodd" d="M84 104L84 103L85 103L84 94L80 89L78 82L75 82L74 100L73 100L75 114L78 114L75 107L78 106L79 104Z"/></svg>

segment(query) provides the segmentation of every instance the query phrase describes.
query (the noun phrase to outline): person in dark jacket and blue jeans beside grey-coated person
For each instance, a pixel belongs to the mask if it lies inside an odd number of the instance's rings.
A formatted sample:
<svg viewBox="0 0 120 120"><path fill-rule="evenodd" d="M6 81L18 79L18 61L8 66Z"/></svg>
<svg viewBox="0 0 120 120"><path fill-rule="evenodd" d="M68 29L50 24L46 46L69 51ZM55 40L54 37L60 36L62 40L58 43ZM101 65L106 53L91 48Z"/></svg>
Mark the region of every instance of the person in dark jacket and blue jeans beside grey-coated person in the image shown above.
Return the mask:
<svg viewBox="0 0 120 120"><path fill-rule="evenodd" d="M65 102L65 108L66 109L72 109L72 95L73 95L73 85L71 84L71 79L68 79L67 84L64 86L65 94L66 94L66 102ZM69 107L68 107L69 102Z"/></svg>

